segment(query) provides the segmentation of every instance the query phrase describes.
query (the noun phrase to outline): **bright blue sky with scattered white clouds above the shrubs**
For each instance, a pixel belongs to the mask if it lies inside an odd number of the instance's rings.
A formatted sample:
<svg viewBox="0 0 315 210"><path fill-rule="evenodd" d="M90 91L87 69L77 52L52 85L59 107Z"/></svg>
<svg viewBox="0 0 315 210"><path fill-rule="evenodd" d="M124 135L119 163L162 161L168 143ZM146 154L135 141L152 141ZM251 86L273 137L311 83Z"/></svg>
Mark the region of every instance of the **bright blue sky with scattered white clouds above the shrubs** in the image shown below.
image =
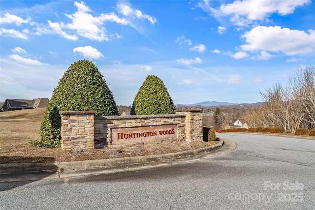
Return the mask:
<svg viewBox="0 0 315 210"><path fill-rule="evenodd" d="M260 102L315 65L314 0L1 0L0 101L50 98L87 59L117 105L148 75L175 104Z"/></svg>

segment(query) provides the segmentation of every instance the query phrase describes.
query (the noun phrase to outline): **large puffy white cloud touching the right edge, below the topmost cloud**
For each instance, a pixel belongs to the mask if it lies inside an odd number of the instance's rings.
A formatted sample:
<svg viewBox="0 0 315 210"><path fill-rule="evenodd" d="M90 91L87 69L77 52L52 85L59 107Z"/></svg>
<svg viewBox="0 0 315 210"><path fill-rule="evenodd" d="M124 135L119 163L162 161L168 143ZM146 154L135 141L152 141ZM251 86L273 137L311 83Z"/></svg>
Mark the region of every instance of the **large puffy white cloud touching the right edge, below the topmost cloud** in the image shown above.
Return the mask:
<svg viewBox="0 0 315 210"><path fill-rule="evenodd" d="M247 44L243 51L283 52L286 55L306 54L315 49L315 30L290 30L280 26L257 26L242 35Z"/></svg>

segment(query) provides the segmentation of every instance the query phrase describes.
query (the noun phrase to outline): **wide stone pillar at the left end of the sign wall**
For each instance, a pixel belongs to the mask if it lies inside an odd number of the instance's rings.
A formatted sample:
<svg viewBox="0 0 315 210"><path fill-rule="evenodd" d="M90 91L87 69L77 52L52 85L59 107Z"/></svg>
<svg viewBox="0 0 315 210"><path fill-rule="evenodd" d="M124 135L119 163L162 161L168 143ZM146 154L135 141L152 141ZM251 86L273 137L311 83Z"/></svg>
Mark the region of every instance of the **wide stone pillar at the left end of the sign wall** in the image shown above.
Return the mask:
<svg viewBox="0 0 315 210"><path fill-rule="evenodd" d="M60 114L62 149L94 149L95 111L61 111Z"/></svg>

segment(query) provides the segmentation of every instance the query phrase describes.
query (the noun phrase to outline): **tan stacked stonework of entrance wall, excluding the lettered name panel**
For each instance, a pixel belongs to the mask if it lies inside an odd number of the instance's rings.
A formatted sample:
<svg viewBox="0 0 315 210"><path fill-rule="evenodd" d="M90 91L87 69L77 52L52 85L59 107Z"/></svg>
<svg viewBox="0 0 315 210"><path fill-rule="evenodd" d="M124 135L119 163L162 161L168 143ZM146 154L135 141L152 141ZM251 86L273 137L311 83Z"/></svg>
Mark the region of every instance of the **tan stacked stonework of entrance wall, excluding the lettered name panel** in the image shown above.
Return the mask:
<svg viewBox="0 0 315 210"><path fill-rule="evenodd" d="M163 125L176 125L175 137L150 140L142 143L158 144L170 141L202 141L201 111L183 111L169 115L137 116L95 116L95 111L60 112L60 114L62 116L63 150L128 146L135 143L113 142L113 130L117 128L141 129Z"/></svg>

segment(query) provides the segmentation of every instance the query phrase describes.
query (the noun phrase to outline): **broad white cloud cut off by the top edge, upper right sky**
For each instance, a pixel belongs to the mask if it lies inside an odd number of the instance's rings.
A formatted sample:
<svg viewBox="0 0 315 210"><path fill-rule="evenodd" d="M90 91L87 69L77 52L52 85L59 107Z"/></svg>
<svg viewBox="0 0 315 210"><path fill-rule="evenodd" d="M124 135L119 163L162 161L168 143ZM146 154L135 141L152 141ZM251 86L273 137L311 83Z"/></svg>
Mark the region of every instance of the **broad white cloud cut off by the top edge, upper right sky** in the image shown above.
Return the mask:
<svg viewBox="0 0 315 210"><path fill-rule="evenodd" d="M219 9L210 7L215 17L230 17L230 22L237 26L246 26L252 21L262 21L273 13L287 15L295 8L310 3L311 0L234 0L233 3L221 4Z"/></svg>

